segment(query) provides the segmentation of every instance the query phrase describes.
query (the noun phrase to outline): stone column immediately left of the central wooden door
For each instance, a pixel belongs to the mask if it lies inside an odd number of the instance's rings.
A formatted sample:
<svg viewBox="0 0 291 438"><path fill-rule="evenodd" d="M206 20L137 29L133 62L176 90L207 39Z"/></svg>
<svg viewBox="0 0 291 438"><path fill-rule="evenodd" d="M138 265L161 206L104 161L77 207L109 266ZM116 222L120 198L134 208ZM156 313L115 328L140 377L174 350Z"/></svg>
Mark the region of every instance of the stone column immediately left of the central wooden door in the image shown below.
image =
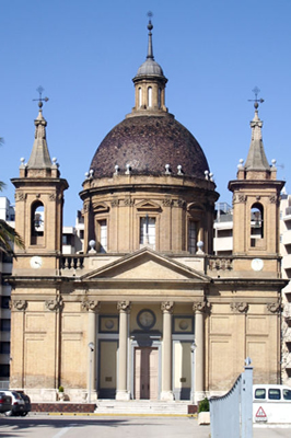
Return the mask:
<svg viewBox="0 0 291 438"><path fill-rule="evenodd" d="M128 315L130 310L129 301L119 301L119 354L117 371L116 400L130 400L127 388L127 344L128 344Z"/></svg>

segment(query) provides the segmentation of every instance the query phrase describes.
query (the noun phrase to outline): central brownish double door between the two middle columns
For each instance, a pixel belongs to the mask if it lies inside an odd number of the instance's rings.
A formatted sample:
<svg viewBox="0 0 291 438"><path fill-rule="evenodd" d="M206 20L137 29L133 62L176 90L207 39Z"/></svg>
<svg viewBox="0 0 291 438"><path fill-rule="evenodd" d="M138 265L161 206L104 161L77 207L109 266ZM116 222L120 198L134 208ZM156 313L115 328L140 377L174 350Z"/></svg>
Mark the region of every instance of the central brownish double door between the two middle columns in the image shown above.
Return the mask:
<svg viewBox="0 0 291 438"><path fill-rule="evenodd" d="M158 348L135 349L135 399L158 400Z"/></svg>

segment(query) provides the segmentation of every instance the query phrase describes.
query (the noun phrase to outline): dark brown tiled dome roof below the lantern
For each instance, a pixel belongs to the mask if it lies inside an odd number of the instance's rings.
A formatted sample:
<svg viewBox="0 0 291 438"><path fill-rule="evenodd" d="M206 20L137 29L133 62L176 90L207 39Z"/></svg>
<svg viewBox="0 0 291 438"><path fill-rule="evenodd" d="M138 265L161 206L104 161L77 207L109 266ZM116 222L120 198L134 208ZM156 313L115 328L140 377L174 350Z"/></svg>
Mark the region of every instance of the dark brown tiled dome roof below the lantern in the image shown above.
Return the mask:
<svg viewBox="0 0 291 438"><path fill-rule="evenodd" d="M175 118L163 116L136 116L125 118L101 142L91 168L94 178L113 176L115 165L124 173L126 164L132 174L161 175L165 164L173 174L177 165L188 176L205 178L209 171L207 159L194 136Z"/></svg>

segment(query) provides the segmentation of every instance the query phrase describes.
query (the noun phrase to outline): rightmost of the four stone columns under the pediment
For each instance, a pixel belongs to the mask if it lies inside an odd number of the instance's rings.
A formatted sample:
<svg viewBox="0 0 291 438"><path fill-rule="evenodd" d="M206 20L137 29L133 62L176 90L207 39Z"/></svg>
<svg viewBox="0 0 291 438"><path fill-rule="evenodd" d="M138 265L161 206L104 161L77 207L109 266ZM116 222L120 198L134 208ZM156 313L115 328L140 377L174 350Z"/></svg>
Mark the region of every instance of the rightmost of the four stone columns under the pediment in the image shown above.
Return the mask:
<svg viewBox="0 0 291 438"><path fill-rule="evenodd" d="M195 402L205 397L205 311L207 302L193 304L195 312Z"/></svg>

